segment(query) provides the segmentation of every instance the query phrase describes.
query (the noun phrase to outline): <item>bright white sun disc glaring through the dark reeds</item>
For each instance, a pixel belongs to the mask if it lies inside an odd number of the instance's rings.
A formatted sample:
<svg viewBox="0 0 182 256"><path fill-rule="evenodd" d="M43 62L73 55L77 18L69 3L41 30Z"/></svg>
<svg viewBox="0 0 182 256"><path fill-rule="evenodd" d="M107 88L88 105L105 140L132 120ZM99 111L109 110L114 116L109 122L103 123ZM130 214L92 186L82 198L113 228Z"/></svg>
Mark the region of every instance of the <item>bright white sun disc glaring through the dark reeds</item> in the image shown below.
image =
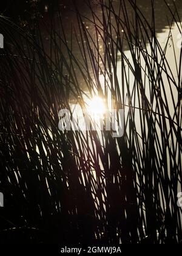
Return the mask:
<svg viewBox="0 0 182 256"><path fill-rule="evenodd" d="M104 100L98 96L93 97L87 101L87 111L90 115L102 116L106 113L106 106Z"/></svg>

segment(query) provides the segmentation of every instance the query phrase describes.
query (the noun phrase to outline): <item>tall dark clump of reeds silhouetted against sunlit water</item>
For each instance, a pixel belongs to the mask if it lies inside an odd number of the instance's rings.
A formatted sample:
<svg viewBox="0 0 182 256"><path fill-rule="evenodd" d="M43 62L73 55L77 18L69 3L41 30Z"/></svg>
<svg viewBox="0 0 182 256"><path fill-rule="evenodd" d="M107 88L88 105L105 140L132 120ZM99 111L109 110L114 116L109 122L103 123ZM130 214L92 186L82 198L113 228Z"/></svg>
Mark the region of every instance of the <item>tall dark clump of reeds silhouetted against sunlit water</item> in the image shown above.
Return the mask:
<svg viewBox="0 0 182 256"><path fill-rule="evenodd" d="M153 1L150 23L135 1L99 1L100 16L86 4L94 33L75 3L69 41L60 10L26 30L1 17L0 241L178 243L182 50L177 60L172 44L177 77L166 58L177 9L161 48ZM74 98L84 107L86 91L125 109L123 137L58 129L59 109Z"/></svg>

